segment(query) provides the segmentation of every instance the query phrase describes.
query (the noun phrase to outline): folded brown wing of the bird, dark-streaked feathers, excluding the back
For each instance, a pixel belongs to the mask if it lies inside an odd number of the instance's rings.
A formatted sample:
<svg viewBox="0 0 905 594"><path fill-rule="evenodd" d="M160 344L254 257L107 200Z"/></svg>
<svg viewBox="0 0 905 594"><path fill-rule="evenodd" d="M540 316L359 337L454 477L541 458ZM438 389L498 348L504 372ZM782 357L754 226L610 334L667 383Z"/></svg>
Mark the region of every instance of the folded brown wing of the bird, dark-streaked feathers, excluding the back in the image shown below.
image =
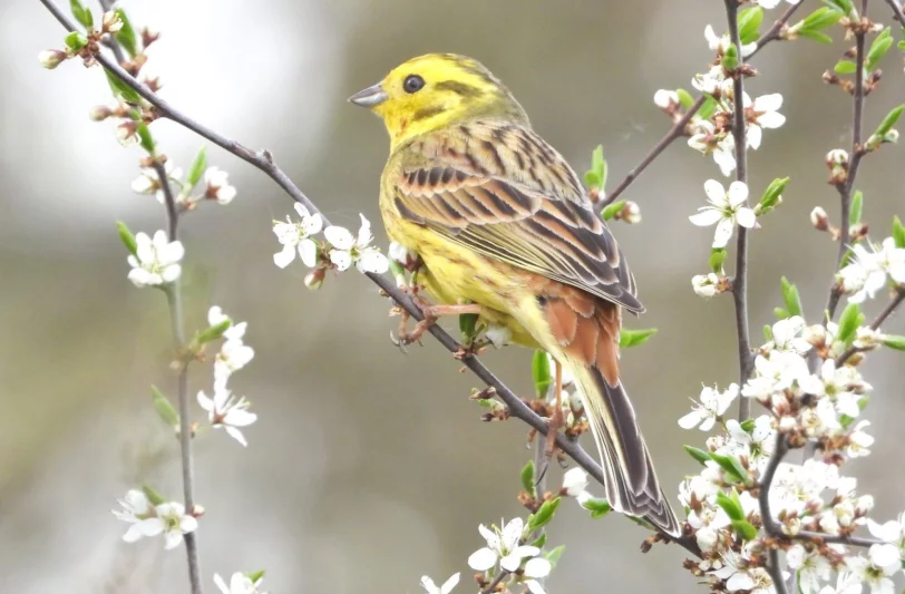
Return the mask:
<svg viewBox="0 0 905 594"><path fill-rule="evenodd" d="M393 198L399 214L489 257L644 311L615 240L590 207L490 167L468 168L403 168Z"/></svg>

